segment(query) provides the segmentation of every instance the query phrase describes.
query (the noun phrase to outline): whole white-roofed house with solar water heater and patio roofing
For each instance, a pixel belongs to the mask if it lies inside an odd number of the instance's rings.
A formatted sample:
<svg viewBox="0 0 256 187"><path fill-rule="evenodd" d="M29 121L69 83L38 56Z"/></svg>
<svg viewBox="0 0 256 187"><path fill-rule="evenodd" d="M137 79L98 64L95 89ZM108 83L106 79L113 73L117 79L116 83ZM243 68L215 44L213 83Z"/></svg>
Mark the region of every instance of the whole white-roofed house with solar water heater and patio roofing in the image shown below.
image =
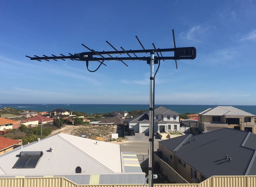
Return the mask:
<svg viewBox="0 0 256 187"><path fill-rule="evenodd" d="M0 178L63 176L78 185L141 185L145 180L135 153L63 133L9 151L0 156L0 163Z"/></svg>

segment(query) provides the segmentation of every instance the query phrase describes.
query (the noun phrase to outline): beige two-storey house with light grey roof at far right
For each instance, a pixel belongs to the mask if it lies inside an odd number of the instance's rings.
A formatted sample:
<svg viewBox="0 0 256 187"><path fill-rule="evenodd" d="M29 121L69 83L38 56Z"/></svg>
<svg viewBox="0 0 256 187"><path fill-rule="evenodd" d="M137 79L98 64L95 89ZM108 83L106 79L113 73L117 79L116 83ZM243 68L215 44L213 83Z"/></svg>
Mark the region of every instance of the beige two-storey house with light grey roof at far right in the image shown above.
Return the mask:
<svg viewBox="0 0 256 187"><path fill-rule="evenodd" d="M201 131L231 128L256 133L254 117L233 106L217 106L199 113L199 128Z"/></svg>

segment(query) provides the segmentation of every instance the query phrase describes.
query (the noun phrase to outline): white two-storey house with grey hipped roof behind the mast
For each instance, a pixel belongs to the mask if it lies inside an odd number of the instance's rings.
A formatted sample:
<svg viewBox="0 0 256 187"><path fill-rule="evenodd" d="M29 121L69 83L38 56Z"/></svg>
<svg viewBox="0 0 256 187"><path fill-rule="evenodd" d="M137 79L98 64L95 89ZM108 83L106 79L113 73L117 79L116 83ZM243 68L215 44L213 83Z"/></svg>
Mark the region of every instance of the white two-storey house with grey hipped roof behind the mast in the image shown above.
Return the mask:
<svg viewBox="0 0 256 187"><path fill-rule="evenodd" d="M147 111L139 116L127 120L129 128L134 128L136 133L149 132L149 114ZM154 111L154 129L155 132L180 131L179 113L166 107L155 107Z"/></svg>

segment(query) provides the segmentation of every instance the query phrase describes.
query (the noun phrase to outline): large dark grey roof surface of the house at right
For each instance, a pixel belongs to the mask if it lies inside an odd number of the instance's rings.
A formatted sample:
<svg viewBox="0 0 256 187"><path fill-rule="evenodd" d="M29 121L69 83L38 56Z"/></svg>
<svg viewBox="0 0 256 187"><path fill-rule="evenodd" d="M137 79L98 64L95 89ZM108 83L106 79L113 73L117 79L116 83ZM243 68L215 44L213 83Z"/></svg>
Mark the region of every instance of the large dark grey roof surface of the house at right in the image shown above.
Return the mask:
<svg viewBox="0 0 256 187"><path fill-rule="evenodd" d="M250 136L245 139L249 134ZM174 151L186 136L188 135L159 143ZM255 159L252 159L256 149L255 136L252 133L229 128L216 130L191 136L179 149L176 149L174 155L206 177L245 175L249 165L251 168L247 173L255 174L256 163ZM244 141L244 146L241 146ZM226 155L231 157L231 161L226 159Z"/></svg>

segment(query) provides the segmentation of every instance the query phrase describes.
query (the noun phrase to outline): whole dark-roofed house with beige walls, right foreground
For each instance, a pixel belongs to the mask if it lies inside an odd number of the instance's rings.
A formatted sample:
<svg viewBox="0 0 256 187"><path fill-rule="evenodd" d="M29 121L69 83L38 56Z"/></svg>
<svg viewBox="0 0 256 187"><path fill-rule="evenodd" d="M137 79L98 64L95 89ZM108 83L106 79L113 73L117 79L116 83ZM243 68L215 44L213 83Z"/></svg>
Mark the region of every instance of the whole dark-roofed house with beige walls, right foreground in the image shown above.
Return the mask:
<svg viewBox="0 0 256 187"><path fill-rule="evenodd" d="M159 141L161 157L188 182L213 175L256 175L256 134L220 129Z"/></svg>

